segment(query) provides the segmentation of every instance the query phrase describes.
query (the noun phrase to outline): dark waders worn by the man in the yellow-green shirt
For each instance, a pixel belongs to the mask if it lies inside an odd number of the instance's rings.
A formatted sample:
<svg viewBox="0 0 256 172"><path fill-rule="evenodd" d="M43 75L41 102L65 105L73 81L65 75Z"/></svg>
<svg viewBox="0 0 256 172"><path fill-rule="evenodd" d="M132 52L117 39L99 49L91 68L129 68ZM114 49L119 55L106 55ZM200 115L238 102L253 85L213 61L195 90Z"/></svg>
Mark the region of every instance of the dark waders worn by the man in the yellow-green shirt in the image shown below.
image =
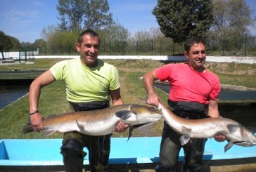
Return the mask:
<svg viewBox="0 0 256 172"><path fill-rule="evenodd" d="M109 107L109 102L70 102L74 110L100 110ZM91 171L108 171L108 158L110 154L111 135L91 136L77 132L64 133L63 145L60 147L63 154L63 163L68 172L82 171L84 157L87 155L83 151L84 147L89 150L89 164Z"/></svg>

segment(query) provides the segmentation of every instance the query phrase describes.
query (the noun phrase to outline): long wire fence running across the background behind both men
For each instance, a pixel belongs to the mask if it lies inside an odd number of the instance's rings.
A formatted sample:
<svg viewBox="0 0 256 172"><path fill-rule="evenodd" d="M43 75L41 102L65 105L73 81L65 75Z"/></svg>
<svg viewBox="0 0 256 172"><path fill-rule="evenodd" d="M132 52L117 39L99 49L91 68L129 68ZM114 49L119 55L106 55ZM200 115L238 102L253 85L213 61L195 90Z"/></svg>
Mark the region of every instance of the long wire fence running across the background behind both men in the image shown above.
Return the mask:
<svg viewBox="0 0 256 172"><path fill-rule="evenodd" d="M207 54L215 56L256 56L256 34L236 37L208 36ZM34 55L79 55L75 46L49 45L26 47ZM22 52L22 51L21 51ZM101 55L183 55L184 44L174 44L172 39L145 41L101 41Z"/></svg>

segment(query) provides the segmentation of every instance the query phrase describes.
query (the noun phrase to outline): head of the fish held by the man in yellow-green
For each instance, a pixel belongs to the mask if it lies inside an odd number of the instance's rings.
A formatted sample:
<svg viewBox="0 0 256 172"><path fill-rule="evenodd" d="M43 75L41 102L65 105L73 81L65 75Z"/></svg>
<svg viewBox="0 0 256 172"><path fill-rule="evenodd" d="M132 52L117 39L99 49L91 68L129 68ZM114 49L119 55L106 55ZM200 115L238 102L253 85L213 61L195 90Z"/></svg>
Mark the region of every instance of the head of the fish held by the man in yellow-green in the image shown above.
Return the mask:
<svg viewBox="0 0 256 172"><path fill-rule="evenodd" d="M136 115L140 124L155 122L162 117L159 110L146 105L132 105L130 110Z"/></svg>

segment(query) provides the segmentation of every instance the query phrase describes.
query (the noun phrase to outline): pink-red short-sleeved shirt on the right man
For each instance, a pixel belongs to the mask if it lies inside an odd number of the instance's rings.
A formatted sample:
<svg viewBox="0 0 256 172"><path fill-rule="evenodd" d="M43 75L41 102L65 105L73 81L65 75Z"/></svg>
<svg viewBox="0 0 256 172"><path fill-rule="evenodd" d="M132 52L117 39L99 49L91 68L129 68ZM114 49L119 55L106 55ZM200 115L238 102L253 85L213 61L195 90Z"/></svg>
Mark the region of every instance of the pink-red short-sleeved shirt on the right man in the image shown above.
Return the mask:
<svg viewBox="0 0 256 172"><path fill-rule="evenodd" d="M155 70L160 81L169 81L169 100L200 102L219 100L220 84L216 74L205 70L196 72L187 63L168 64Z"/></svg>

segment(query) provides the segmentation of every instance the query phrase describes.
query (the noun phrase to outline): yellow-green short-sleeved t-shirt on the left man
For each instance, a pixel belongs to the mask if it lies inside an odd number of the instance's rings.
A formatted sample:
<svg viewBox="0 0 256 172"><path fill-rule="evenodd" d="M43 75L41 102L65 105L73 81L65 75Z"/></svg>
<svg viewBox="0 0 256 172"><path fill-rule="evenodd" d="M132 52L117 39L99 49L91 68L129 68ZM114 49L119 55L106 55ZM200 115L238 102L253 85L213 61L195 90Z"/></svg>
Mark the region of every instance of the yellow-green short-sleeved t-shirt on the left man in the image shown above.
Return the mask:
<svg viewBox="0 0 256 172"><path fill-rule="evenodd" d="M116 67L99 59L95 68L89 68L80 58L75 58L56 63L50 71L56 80L64 82L70 102L109 100L109 91L120 88Z"/></svg>

